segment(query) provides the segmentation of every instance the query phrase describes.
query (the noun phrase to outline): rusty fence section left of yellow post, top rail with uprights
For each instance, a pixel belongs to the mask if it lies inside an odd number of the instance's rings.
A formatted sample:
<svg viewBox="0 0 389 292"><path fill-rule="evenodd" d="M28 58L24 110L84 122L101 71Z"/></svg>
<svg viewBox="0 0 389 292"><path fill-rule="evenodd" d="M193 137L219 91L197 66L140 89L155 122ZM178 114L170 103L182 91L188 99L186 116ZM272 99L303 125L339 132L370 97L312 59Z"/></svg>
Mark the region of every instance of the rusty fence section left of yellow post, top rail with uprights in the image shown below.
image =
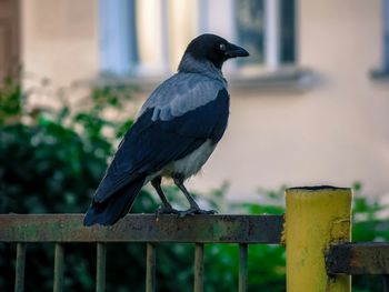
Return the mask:
<svg viewBox="0 0 389 292"><path fill-rule="evenodd" d="M239 244L239 291L247 291L248 244L279 244L282 215L176 215L130 214L113 226L82 225L82 214L0 215L0 242L17 244L16 288L24 286L26 244L53 242L53 291L62 291L63 245L73 242L97 244L96 291L106 290L107 244L144 242L146 291L156 290L156 245L159 242L194 243L193 291L203 291L206 243Z"/></svg>

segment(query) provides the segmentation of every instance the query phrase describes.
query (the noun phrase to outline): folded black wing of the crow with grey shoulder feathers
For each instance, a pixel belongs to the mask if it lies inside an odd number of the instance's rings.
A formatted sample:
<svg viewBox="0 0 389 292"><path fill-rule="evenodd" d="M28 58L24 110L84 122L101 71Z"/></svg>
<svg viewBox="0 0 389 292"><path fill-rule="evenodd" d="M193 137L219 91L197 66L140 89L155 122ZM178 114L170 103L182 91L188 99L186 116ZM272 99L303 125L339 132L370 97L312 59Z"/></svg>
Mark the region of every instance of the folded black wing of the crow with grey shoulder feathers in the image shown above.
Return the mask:
<svg viewBox="0 0 389 292"><path fill-rule="evenodd" d="M143 107L141 115L120 143L96 192L94 202L104 202L132 181L144 180L168 163L191 153L208 139L213 143L221 139L227 127L229 95L219 84L213 90L209 84L206 88L196 84L194 90L182 91L168 102L170 108L162 102L159 105L157 98L146 103L148 105ZM208 102L201 100L196 107L193 104L199 101L192 98L200 94L198 91L208 95ZM176 94L173 88L166 90L164 94L169 92ZM160 99L167 99L164 94L160 93ZM184 94L189 95L182 98ZM189 110L179 111L178 108Z"/></svg>

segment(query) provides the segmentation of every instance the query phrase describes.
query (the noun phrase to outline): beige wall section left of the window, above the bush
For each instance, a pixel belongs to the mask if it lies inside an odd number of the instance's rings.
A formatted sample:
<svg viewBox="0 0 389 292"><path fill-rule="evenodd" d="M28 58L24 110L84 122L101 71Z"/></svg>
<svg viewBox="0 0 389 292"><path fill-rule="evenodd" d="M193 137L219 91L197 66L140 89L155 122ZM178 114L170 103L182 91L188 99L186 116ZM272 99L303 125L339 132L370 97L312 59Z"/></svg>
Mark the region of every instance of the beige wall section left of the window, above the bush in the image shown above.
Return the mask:
<svg viewBox="0 0 389 292"><path fill-rule="evenodd" d="M96 0L22 0L22 62L27 81L56 85L98 72Z"/></svg>

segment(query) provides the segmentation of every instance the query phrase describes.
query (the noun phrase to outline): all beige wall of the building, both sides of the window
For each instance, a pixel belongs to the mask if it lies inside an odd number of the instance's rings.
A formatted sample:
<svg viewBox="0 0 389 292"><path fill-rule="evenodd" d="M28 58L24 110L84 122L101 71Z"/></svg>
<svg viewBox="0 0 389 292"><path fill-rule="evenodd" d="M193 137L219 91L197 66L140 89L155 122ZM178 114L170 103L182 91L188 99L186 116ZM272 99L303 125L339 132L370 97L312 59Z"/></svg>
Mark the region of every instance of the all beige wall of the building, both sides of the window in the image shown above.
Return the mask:
<svg viewBox="0 0 389 292"><path fill-rule="evenodd" d="M26 70L58 84L93 79L97 2L22 2ZM255 199L259 187L359 180L371 194L389 192L389 83L369 77L381 59L381 0L298 2L299 64L318 84L282 92L231 84L229 129L192 189L229 180L231 197Z"/></svg>

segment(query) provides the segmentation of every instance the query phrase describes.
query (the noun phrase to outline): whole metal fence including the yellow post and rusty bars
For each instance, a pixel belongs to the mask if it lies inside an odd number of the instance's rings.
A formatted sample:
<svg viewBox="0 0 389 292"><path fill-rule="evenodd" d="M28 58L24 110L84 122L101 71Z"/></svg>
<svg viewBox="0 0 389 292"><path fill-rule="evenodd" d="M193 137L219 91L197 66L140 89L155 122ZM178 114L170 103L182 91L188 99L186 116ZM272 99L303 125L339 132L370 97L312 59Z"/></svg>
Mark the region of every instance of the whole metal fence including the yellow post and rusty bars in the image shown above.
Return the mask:
<svg viewBox="0 0 389 292"><path fill-rule="evenodd" d="M286 192L286 215L130 214L113 226L82 225L83 214L2 214L0 242L17 244L14 291L24 288L26 244L54 243L53 291L62 291L67 243L97 246L96 291L106 290L107 244L143 242L146 291L156 290L156 248L160 242L194 244L193 291L203 291L205 244L239 244L239 288L248 290L248 248L252 243L287 246L287 290L350 291L351 275L382 274L389 291L389 244L351 243L351 191L332 187Z"/></svg>

